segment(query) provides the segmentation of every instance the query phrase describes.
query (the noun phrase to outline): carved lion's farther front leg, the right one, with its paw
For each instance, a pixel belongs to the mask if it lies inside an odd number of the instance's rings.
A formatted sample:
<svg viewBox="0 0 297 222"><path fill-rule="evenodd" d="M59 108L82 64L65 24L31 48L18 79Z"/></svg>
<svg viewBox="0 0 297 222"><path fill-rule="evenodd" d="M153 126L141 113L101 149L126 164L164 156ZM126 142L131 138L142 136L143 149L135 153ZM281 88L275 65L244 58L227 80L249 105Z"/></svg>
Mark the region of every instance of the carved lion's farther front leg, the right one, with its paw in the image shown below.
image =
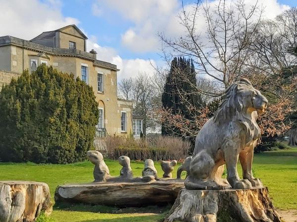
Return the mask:
<svg viewBox="0 0 297 222"><path fill-rule="evenodd" d="M239 159L243 168L243 178L247 179L252 186L263 186L262 182L258 178L254 178L252 175L252 159L253 159L253 145L247 150L240 152Z"/></svg>

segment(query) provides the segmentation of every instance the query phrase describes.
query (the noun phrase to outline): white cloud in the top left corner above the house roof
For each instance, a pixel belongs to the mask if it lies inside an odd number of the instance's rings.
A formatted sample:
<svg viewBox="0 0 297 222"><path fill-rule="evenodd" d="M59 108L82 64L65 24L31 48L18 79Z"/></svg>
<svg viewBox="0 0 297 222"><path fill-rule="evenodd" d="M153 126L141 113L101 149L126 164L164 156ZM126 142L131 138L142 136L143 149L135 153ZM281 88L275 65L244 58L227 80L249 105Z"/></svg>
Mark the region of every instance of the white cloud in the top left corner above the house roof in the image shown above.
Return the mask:
<svg viewBox="0 0 297 222"><path fill-rule="evenodd" d="M59 0L0 0L0 36L13 36L27 40L42 32L79 24L72 17L64 17Z"/></svg>

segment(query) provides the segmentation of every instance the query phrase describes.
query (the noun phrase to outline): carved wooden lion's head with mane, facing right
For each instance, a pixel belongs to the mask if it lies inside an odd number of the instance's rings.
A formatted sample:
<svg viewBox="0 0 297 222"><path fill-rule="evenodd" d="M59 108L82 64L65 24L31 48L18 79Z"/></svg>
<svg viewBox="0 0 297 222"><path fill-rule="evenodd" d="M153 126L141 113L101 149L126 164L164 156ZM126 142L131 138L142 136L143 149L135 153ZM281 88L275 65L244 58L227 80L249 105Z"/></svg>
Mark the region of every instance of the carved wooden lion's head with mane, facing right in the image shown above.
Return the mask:
<svg viewBox="0 0 297 222"><path fill-rule="evenodd" d="M246 78L242 78L226 89L213 119L215 122L226 122L236 116L238 121L245 122L249 116L255 115L256 118L254 111L264 112L267 103L267 99Z"/></svg>

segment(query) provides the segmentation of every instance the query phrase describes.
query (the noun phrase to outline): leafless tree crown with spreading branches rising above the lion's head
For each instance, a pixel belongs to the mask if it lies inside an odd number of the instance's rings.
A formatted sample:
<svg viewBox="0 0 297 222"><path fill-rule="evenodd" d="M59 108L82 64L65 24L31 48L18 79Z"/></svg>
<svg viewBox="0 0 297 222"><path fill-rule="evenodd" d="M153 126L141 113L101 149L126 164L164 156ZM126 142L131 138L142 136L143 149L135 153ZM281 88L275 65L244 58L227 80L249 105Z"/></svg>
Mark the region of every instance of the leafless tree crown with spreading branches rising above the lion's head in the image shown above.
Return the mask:
<svg viewBox="0 0 297 222"><path fill-rule="evenodd" d="M203 14L203 16L201 16ZM244 0L227 5L197 2L192 11L183 8L180 24L186 34L179 38L167 38L159 34L163 42L164 58L171 53L195 59L198 74L208 75L225 88L241 75L241 68L248 58L249 42L260 22L262 8L248 7ZM197 28L205 20L205 33Z"/></svg>

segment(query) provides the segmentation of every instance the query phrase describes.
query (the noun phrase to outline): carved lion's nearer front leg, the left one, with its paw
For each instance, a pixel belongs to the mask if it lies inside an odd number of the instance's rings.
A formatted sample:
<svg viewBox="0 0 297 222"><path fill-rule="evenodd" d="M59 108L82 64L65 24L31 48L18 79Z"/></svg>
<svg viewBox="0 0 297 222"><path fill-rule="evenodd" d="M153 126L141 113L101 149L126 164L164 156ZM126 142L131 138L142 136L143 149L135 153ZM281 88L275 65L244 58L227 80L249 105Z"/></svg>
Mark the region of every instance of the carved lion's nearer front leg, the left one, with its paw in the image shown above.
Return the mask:
<svg viewBox="0 0 297 222"><path fill-rule="evenodd" d="M251 183L247 180L240 180L237 171L237 162L239 158L239 149L235 147L226 147L224 149L224 156L227 167L227 181L235 189L251 188Z"/></svg>

